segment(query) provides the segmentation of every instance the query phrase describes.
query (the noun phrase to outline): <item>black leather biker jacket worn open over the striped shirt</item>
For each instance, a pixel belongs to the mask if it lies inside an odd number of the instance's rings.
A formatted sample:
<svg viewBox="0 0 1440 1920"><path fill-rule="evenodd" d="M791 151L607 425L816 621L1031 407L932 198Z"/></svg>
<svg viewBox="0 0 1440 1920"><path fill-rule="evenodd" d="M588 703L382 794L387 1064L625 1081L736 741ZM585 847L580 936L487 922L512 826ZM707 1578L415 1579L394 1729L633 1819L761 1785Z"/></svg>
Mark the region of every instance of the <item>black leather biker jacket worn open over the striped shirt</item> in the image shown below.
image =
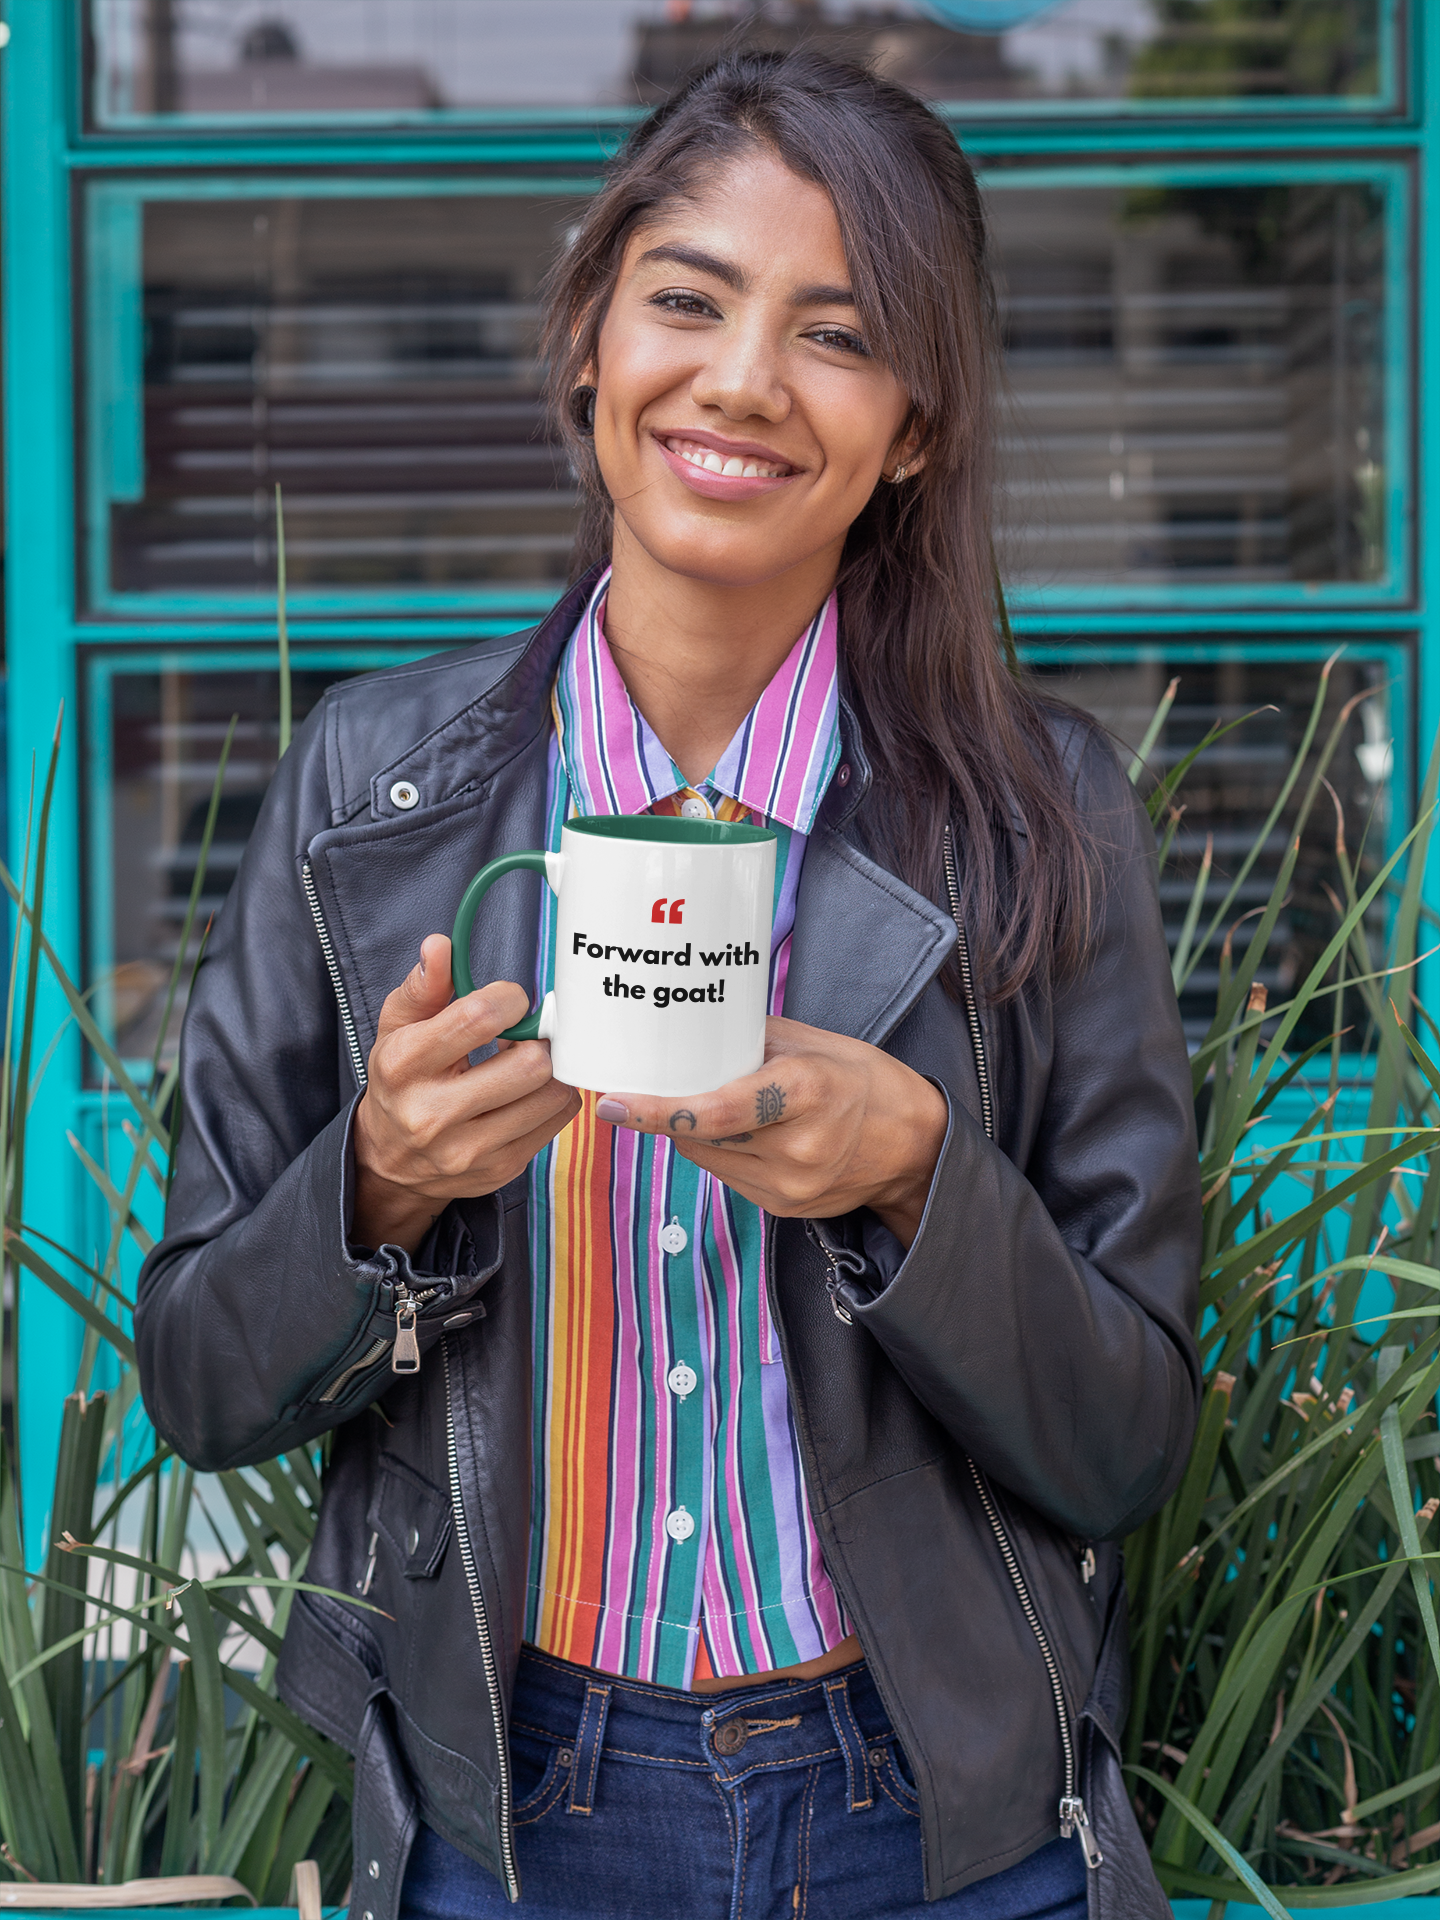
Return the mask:
<svg viewBox="0 0 1440 1920"><path fill-rule="evenodd" d="M451 1206L415 1261L357 1250L349 1129L420 937L486 860L543 845L549 689L586 586L534 634L330 689L298 733L196 979L167 1231L140 1277L146 1405L184 1459L236 1467L334 1428L307 1578L355 1594L374 1555L384 1613L301 1596L280 1686L357 1757L365 1920L394 1920L417 1818L516 1891L526 1183ZM870 774L845 720L785 1014L927 1073L950 1127L908 1256L885 1260L868 1215L781 1219L768 1286L826 1565L920 1788L927 1897L1052 1839L1068 1793L1106 1857L1091 1912L1160 1920L1116 1753L1106 1542L1190 1444L1196 1142L1150 828L1104 741L1075 726L1069 753L1106 849L1094 962L977 1008L972 1033L937 981L948 910L856 841ZM474 977L528 983L536 924L516 876L486 902ZM428 1296L420 1369L396 1375L407 1296Z"/></svg>

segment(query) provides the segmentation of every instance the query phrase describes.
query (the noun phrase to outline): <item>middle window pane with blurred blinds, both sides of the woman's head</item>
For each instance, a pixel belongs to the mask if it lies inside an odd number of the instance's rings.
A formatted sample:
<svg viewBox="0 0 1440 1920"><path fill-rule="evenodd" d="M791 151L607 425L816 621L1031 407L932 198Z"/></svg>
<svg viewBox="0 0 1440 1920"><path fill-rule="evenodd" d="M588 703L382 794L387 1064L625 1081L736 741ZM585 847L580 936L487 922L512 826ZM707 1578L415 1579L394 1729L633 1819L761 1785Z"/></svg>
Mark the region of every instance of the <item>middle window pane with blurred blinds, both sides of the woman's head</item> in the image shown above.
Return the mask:
<svg viewBox="0 0 1440 1920"><path fill-rule="evenodd" d="M1404 591L1396 177L987 177L1018 595ZM545 605L536 294L584 198L90 190L88 595Z"/></svg>

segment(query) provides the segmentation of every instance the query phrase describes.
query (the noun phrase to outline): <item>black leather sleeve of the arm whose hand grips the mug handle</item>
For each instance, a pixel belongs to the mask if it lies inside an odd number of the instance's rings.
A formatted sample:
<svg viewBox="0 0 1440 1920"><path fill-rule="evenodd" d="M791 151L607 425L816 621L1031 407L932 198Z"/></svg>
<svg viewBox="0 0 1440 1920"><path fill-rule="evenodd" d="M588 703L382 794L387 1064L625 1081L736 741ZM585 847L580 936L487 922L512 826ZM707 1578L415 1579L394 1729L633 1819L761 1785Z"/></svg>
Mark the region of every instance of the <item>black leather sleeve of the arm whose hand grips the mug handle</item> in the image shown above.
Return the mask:
<svg viewBox="0 0 1440 1920"><path fill-rule="evenodd" d="M447 1210L415 1265L348 1240L357 1096L303 887L305 847L330 824L323 716L280 762L194 981L165 1236L138 1281L146 1409L205 1471L359 1411L390 1365L396 1286L438 1288L434 1323L501 1258L495 1196Z"/></svg>

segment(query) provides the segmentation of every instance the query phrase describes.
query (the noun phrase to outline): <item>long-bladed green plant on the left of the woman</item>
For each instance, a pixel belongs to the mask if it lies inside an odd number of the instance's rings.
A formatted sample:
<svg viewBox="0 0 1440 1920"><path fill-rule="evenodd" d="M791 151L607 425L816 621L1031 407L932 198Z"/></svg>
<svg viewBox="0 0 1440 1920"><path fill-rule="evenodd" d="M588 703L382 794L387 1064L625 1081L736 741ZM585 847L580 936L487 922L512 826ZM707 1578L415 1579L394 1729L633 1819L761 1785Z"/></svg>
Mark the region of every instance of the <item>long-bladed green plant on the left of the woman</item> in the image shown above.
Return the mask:
<svg viewBox="0 0 1440 1920"><path fill-rule="evenodd" d="M280 570L282 751L288 666ZM275 1693L286 1615L305 1584L319 1463L298 1450L198 1484L144 1419L131 1338L132 1281L152 1246L140 1194L150 1188L163 1198L179 1125L177 1068L165 1066L165 1043L204 952L198 916L232 739L234 722L148 1071L125 1066L90 995L42 931L60 728L33 799L21 874L0 866L15 925L0 1048L10 1334L23 1352L21 1273L84 1321L40 1571L25 1569L15 1440L0 1442L0 1882L223 1876L234 1891L280 1905L298 1862L319 1862L330 1899L342 1895L349 1868L349 1755ZM36 1060L44 973L104 1073L108 1117L119 1110L131 1150L119 1171L69 1137L109 1219L108 1244L92 1261L25 1223L29 1114L56 1048L52 1041ZM46 1150L56 1146L46 1142ZM25 1392L19 1365L13 1377ZM96 1390L100 1380L104 1390ZM221 1569L204 1580L196 1578L202 1555Z"/></svg>

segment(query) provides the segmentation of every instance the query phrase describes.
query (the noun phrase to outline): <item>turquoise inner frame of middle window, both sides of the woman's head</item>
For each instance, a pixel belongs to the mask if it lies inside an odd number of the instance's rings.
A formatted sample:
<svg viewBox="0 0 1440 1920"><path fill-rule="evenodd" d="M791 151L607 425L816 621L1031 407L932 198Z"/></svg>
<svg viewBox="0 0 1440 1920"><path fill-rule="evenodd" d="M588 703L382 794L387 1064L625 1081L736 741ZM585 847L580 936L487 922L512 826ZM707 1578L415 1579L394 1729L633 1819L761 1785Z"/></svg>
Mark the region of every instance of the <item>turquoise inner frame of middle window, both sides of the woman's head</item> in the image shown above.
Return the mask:
<svg viewBox="0 0 1440 1920"><path fill-rule="evenodd" d="M200 614L259 611L269 595L253 593L117 593L109 588L109 503L138 499L144 492L142 413L142 317L140 246L144 205L152 202L267 200L296 194L311 200L405 198L453 194L457 198L561 198L595 192L595 175L501 179L417 175L357 179L346 173L275 175L146 175L90 179L83 182L84 221L84 451L83 451L83 553L86 611L92 616L165 620ZM1386 568L1367 582L1275 582L1150 586L1069 586L1064 580L1016 586L1018 612L1058 607L1091 609L1215 609L1304 607L1311 616L1331 616L1352 607L1402 607L1411 584L1413 497L1411 417L1411 167L1405 159L1365 156L1352 159L1206 159L1150 167L1075 161L1071 165L991 167L981 171L987 194L1046 192L1127 186L1317 186L1363 184L1384 207L1384 436L1386 436ZM127 376L127 365L131 369ZM555 593L536 589L426 588L426 589L313 589L292 591L296 612L543 612Z"/></svg>

